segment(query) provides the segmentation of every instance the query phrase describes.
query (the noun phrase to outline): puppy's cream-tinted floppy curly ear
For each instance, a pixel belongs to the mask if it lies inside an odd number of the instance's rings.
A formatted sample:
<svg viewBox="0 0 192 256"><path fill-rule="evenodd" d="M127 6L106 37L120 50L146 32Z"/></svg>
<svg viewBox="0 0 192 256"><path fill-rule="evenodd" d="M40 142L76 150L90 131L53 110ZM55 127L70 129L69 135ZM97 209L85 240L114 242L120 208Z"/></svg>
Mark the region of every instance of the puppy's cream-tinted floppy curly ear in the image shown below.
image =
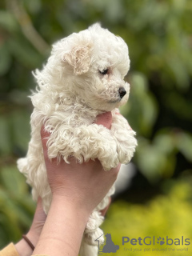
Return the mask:
<svg viewBox="0 0 192 256"><path fill-rule="evenodd" d="M74 74L84 74L90 68L91 45L75 46L69 53L64 54L62 60L73 66Z"/></svg>

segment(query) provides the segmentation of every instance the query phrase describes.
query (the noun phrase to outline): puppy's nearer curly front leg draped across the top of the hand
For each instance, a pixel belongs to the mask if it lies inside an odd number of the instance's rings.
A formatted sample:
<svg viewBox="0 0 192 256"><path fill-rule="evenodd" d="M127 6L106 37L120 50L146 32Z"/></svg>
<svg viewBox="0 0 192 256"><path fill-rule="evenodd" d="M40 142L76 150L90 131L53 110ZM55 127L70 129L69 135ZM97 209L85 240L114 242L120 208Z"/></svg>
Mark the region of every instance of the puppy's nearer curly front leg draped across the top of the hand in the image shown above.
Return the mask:
<svg viewBox="0 0 192 256"><path fill-rule="evenodd" d="M50 158L61 157L67 162L71 156L78 162L98 158L104 170L118 166L117 144L110 130L97 124L79 127L59 127L48 141Z"/></svg>

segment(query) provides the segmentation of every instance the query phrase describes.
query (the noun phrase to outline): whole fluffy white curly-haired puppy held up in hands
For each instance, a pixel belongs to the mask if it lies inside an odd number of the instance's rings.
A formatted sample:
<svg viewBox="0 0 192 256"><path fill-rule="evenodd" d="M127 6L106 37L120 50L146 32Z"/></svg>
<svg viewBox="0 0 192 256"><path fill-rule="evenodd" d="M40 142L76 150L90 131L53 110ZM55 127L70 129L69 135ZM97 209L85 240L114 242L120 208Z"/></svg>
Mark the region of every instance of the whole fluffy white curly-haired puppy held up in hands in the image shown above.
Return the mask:
<svg viewBox="0 0 192 256"><path fill-rule="evenodd" d="M118 106L127 102L130 85L123 80L130 68L126 43L102 29L99 24L71 34L53 46L50 58L34 77L38 90L31 96L31 140L26 158L18 159L18 169L32 186L34 200L41 196L47 213L51 202L50 186L42 153L42 124L50 133L49 158L70 156L78 162L98 158L104 170L130 162L137 141ZM111 111L113 122L108 130L94 123L98 114ZM80 254L97 255L98 228L114 186L97 206L86 225ZM94 246L88 246L94 245Z"/></svg>

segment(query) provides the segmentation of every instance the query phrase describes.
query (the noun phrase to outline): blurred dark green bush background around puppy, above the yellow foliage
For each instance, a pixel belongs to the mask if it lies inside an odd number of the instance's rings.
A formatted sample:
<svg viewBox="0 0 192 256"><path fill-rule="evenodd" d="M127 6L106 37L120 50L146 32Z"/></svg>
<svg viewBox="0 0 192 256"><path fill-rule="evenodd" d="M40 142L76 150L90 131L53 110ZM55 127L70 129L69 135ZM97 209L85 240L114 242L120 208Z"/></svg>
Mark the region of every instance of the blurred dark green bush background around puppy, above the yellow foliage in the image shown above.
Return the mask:
<svg viewBox="0 0 192 256"><path fill-rule="evenodd" d="M190 0L0 2L0 246L26 230L34 207L15 165L30 139L31 70L42 67L53 42L94 22L124 38L130 50L130 100L122 114L138 134L137 175L122 198L146 201L164 182L191 177L191 17ZM11 194L8 179L23 189Z"/></svg>

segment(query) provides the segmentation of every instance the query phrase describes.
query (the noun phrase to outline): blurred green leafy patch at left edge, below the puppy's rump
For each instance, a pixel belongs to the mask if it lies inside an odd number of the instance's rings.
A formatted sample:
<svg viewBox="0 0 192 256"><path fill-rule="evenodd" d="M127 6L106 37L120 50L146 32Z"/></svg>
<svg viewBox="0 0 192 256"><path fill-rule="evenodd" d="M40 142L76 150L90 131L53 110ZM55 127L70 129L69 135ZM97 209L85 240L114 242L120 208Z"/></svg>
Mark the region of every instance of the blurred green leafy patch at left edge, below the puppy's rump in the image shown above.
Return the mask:
<svg viewBox="0 0 192 256"><path fill-rule="evenodd" d="M4 166L0 172L0 248L21 238L33 214L34 202L25 178L15 166Z"/></svg>

